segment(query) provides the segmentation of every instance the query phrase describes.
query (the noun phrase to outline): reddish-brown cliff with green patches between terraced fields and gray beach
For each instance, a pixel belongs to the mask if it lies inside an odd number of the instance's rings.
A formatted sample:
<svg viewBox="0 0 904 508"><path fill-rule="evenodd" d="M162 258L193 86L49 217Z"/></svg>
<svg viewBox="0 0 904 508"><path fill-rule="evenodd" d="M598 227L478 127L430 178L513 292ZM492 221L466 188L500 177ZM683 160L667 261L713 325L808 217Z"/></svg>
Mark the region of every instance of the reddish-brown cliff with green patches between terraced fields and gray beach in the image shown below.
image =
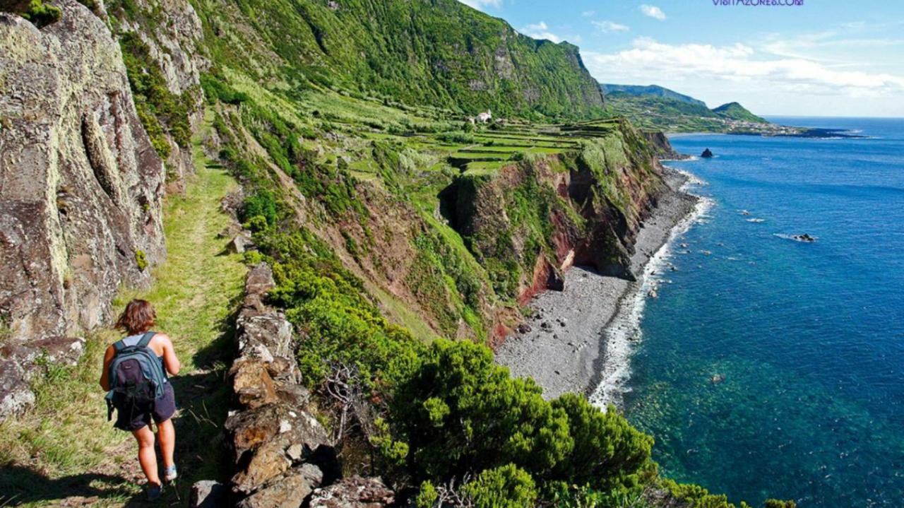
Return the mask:
<svg viewBox="0 0 904 508"><path fill-rule="evenodd" d="M492 176L465 174L454 186L456 229L488 268L495 293L523 306L561 290L574 265L634 278L628 259L662 180L653 148L621 124L576 154L528 156ZM496 321L499 338L518 319L503 313Z"/></svg>

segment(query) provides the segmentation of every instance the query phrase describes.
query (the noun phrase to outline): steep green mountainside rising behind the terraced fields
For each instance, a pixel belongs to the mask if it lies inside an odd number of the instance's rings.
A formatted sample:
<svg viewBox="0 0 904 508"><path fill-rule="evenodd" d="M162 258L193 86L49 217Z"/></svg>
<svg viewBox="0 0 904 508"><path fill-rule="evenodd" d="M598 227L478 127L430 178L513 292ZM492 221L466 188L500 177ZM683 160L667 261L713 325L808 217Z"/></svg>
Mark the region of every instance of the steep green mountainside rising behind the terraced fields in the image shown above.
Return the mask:
<svg viewBox="0 0 904 508"><path fill-rule="evenodd" d="M456 0L196 4L216 60L257 80L468 115L588 118L602 108L577 47L534 40Z"/></svg>

